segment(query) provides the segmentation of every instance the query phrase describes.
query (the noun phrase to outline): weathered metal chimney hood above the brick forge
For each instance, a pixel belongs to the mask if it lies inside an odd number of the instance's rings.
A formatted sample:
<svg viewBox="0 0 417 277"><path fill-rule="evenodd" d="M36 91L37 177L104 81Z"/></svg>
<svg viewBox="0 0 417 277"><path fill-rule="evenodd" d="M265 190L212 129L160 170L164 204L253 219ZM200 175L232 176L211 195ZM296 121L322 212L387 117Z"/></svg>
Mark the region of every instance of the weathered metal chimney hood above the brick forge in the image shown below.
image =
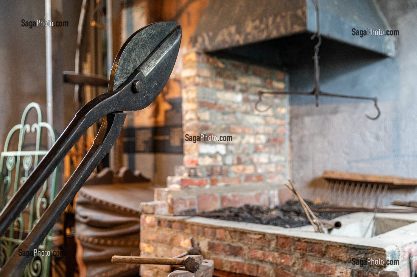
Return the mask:
<svg viewBox="0 0 417 277"><path fill-rule="evenodd" d="M312 0L209 0L192 43L206 52L230 50L315 33L316 20ZM353 28L391 30L374 0L319 0L319 22L324 39L386 57L394 55L393 36L352 35Z"/></svg>

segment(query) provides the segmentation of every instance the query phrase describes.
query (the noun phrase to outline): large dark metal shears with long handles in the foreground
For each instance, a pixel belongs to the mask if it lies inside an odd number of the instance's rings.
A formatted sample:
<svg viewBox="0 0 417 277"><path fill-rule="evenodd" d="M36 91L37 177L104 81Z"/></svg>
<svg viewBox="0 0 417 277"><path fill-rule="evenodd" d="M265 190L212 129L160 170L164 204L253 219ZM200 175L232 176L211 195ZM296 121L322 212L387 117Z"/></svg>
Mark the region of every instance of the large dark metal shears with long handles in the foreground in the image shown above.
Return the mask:
<svg viewBox="0 0 417 277"><path fill-rule="evenodd" d="M56 166L82 134L104 117L93 146L43 216L18 246L33 251L74 198L91 172L111 150L121 132L126 114L146 108L162 91L174 67L181 42L177 22L158 22L135 32L119 50L113 63L108 92L85 104L50 148L42 161L0 213L0 235L23 211ZM15 250L0 276L19 276L32 257Z"/></svg>

